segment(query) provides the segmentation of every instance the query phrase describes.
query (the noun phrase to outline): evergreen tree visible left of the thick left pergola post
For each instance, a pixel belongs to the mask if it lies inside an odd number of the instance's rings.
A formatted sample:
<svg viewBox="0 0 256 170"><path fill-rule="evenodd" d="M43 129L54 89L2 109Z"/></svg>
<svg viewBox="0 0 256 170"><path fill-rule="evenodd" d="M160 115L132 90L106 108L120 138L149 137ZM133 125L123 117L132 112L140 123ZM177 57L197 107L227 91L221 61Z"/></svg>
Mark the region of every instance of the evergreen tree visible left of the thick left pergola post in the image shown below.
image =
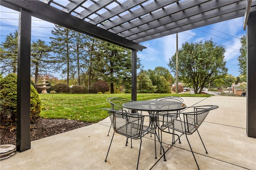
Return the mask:
<svg viewBox="0 0 256 170"><path fill-rule="evenodd" d="M0 51L1 74L17 73L18 66L18 31L6 36Z"/></svg>

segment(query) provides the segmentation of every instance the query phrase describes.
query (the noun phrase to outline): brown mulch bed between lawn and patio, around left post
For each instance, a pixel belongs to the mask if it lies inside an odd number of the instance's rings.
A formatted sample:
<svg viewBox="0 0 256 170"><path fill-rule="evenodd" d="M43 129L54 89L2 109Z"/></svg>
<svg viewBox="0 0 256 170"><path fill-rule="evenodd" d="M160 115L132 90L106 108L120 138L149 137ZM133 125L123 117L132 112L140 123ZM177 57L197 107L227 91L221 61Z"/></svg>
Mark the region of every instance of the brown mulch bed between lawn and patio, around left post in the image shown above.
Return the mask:
<svg viewBox="0 0 256 170"><path fill-rule="evenodd" d="M70 119L44 119L39 118L33 123L30 131L31 141L57 135L63 132L71 131L80 127L88 126L93 123L70 120ZM0 145L16 145L16 130L10 132L10 129L0 128Z"/></svg>

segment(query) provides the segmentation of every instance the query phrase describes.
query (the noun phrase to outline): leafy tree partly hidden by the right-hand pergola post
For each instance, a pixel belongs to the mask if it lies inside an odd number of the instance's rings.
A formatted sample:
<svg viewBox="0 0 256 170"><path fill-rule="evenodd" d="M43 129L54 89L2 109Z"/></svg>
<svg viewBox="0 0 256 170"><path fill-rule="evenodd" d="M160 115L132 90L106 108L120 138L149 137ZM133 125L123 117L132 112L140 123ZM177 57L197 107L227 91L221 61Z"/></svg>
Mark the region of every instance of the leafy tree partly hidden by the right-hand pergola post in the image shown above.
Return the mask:
<svg viewBox="0 0 256 170"><path fill-rule="evenodd" d="M240 53L241 55L238 57L238 66L239 66L239 72L241 73L242 76L247 76L247 38L246 34L242 35L240 38L241 42L241 48L240 48Z"/></svg>

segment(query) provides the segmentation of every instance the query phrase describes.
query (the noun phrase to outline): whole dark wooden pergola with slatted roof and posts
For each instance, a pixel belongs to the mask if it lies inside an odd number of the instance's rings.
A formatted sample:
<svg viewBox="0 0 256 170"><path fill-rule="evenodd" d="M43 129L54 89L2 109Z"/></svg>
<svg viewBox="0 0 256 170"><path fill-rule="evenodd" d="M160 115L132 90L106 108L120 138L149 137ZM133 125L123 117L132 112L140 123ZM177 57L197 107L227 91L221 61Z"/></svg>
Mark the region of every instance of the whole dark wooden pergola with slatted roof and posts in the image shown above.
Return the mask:
<svg viewBox="0 0 256 170"><path fill-rule="evenodd" d="M31 17L132 50L132 100L136 100L139 43L244 16L247 27L247 125L256 138L256 0L1 0L19 11L17 139L30 149ZM235 25L237 26L237 25Z"/></svg>

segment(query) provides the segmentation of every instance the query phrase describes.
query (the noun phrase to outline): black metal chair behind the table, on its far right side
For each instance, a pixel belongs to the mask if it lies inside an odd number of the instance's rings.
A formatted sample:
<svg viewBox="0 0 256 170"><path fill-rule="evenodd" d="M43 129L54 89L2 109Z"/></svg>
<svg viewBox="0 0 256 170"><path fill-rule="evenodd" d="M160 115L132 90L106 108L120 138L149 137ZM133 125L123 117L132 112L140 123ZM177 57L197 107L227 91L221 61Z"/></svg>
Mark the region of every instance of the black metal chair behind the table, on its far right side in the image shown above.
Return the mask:
<svg viewBox="0 0 256 170"><path fill-rule="evenodd" d="M165 97L157 98L156 100L165 100L165 101L180 102L180 103L184 102L184 100L182 98L176 97L176 96L165 96ZM158 122L167 123L167 122L171 121L173 118L178 118L178 117L180 117L180 115L177 114L179 112L180 112L180 110L158 112ZM158 134L159 134L159 132L158 132ZM172 135L172 143L174 143L174 141L175 141L174 135ZM179 139L179 143L180 143L180 138L178 137L178 139ZM161 137L161 142L162 142L162 137Z"/></svg>

